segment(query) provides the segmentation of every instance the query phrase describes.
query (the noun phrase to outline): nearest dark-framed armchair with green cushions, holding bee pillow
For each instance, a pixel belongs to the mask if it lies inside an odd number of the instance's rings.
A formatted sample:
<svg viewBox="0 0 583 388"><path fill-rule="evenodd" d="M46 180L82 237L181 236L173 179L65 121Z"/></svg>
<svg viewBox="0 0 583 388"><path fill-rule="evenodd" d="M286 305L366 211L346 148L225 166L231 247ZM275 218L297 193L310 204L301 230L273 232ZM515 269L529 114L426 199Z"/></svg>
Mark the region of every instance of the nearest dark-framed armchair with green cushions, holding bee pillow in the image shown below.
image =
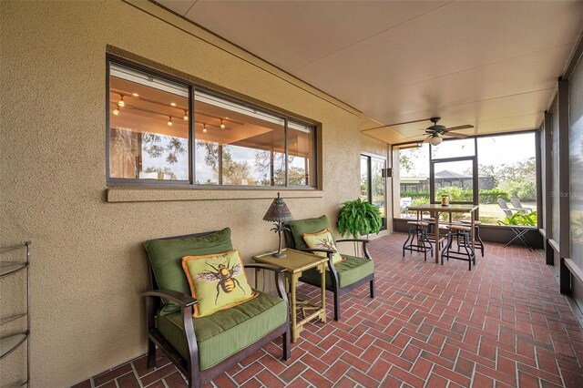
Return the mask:
<svg viewBox="0 0 583 388"><path fill-rule="evenodd" d="M280 335L283 358L290 358L289 304L283 286L285 269L245 264L245 269L274 272L279 296L259 292L257 298L230 309L192 318L198 301L190 296L181 259L232 249L230 229L149 240L144 247L153 288L144 293L149 369L156 365L158 346L189 379L189 387L199 387Z"/></svg>

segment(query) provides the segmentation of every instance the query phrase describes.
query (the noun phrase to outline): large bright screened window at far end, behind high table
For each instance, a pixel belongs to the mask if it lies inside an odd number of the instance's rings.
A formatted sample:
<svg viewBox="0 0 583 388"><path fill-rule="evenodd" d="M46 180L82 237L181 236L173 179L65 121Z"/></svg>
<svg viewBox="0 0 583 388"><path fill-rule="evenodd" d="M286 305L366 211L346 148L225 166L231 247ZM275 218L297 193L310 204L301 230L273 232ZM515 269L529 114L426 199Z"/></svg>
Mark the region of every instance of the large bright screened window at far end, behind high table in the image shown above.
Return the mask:
<svg viewBox="0 0 583 388"><path fill-rule="evenodd" d="M437 203L442 195L449 195L453 203L477 202L480 220L485 224L537 226L535 132L448 139L436 147L396 145L394 170L394 192L399 193L394 214L401 218L414 217L408 206L429 203L433 192ZM515 208L510 199L519 199L527 208L521 213L526 215L510 220L498 205L499 198L505 199L509 208ZM454 219L465 217L468 215Z"/></svg>

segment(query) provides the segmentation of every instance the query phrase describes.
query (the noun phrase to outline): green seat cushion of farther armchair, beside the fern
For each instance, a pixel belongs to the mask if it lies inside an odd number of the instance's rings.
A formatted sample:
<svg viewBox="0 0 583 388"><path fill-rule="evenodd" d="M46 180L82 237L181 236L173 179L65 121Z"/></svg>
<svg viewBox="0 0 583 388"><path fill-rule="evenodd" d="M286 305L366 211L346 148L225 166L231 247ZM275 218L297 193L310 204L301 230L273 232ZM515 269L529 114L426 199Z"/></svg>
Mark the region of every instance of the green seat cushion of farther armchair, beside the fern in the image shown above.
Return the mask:
<svg viewBox="0 0 583 388"><path fill-rule="evenodd" d="M354 256L343 255L346 259L338 264L334 264L334 268L338 272L338 282L340 287L346 287L353 282L360 281L364 277L374 272L373 260L357 258ZM302 273L300 281L320 284L322 275L315 269L308 270ZM332 274L326 271L326 287L332 287Z"/></svg>

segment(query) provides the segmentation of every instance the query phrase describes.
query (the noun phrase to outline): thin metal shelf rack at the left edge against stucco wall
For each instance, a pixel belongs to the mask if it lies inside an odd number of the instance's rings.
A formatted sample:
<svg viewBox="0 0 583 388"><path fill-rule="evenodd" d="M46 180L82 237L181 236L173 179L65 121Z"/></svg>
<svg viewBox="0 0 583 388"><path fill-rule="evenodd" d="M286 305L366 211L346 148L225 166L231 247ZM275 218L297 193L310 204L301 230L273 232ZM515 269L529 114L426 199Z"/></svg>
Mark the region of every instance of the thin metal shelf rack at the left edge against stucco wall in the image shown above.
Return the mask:
<svg viewBox="0 0 583 388"><path fill-rule="evenodd" d="M26 381L20 385L30 385L30 246L31 241L10 247L0 247L0 253L14 252L15 250L26 250L26 260L9 261L0 260L0 280L8 276L23 272L26 276L26 311L19 312L10 316L0 316L0 326L9 322L15 322L26 318L26 330L5 333L0 336L0 361L4 360L10 353L15 352L21 345L26 342Z"/></svg>

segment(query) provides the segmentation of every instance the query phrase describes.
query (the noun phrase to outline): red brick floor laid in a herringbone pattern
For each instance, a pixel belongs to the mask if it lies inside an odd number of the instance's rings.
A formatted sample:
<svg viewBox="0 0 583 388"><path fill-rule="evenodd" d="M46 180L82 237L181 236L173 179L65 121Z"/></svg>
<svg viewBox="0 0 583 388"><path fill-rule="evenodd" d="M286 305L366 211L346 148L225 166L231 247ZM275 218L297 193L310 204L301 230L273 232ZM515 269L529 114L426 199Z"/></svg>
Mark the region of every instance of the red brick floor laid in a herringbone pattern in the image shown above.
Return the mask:
<svg viewBox="0 0 583 388"><path fill-rule="evenodd" d="M271 343L208 386L583 387L583 332L540 252L486 244L467 271L465 261L403 259L404 239L371 244L374 300L363 286L342 298L341 322L329 306L329 322L305 328L290 361ZM145 363L79 386L186 385L166 359L154 371Z"/></svg>

